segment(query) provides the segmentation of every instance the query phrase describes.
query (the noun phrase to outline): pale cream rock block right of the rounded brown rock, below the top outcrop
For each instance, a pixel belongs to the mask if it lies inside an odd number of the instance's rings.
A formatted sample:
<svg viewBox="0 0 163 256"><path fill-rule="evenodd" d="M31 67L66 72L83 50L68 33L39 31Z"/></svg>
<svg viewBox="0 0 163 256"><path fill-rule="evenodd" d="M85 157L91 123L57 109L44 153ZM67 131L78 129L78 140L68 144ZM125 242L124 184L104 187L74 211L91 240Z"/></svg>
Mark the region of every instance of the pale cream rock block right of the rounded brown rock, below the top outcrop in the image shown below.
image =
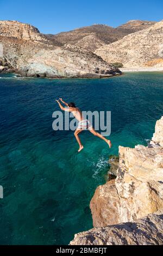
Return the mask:
<svg viewBox="0 0 163 256"><path fill-rule="evenodd" d="M119 148L120 166L115 181L120 196L120 222L134 221L163 208L162 148L141 145Z"/></svg>

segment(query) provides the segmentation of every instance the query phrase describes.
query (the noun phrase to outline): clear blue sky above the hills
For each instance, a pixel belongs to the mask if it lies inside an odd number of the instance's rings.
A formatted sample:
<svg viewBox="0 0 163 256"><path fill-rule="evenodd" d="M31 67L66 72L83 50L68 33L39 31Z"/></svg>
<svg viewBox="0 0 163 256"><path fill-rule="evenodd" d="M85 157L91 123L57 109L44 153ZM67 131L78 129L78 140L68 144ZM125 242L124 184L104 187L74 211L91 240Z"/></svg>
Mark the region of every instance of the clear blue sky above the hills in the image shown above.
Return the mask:
<svg viewBox="0 0 163 256"><path fill-rule="evenodd" d="M0 0L0 20L17 20L59 33L95 23L117 27L128 20L163 19L162 0Z"/></svg>

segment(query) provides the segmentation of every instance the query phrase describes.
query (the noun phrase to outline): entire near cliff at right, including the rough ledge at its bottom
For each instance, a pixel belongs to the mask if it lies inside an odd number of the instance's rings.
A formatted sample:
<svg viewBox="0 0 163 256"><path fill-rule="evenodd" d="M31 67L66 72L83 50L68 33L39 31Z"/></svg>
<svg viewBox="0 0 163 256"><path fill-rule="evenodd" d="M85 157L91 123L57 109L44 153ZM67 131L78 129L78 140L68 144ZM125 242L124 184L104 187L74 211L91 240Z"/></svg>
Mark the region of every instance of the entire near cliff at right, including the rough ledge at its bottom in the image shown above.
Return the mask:
<svg viewBox="0 0 163 256"><path fill-rule="evenodd" d="M163 244L163 117L147 147L119 147L117 178L99 186L90 208L95 228L70 245Z"/></svg>

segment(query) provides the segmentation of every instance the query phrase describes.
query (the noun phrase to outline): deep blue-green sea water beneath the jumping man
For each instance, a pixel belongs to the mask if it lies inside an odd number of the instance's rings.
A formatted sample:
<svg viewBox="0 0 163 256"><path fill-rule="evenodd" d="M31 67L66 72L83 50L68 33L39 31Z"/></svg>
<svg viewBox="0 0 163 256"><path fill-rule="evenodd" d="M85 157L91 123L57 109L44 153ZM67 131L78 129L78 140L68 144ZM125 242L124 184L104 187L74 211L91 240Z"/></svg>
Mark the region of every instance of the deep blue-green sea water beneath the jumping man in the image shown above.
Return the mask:
<svg viewBox="0 0 163 256"><path fill-rule="evenodd" d="M64 245L92 228L89 203L104 184L118 145L147 144L163 113L163 74L109 79L18 78L0 75L0 243ZM53 131L54 99L84 111L111 111L113 147L84 131L84 150L72 131Z"/></svg>

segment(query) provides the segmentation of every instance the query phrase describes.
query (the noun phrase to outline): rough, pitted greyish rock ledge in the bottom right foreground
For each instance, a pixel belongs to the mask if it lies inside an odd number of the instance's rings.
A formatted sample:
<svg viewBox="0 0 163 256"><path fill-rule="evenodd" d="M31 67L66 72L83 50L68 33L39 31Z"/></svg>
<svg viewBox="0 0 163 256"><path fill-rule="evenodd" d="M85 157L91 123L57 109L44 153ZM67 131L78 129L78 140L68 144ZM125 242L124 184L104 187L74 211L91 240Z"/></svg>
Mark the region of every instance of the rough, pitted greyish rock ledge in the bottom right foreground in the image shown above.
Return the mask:
<svg viewBox="0 0 163 256"><path fill-rule="evenodd" d="M163 245L163 211L135 222L93 228L74 236L70 245Z"/></svg>

